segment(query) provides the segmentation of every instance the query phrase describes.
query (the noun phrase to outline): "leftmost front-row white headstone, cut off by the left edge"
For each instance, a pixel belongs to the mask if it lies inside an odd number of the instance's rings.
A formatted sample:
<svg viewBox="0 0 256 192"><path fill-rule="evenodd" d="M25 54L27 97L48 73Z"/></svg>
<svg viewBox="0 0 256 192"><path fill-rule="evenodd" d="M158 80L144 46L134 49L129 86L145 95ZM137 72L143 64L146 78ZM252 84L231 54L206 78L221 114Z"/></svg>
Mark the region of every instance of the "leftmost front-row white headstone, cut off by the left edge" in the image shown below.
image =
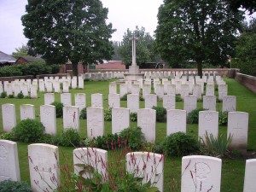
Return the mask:
<svg viewBox="0 0 256 192"><path fill-rule="evenodd" d="M20 181L20 166L17 143L0 140L0 182Z"/></svg>

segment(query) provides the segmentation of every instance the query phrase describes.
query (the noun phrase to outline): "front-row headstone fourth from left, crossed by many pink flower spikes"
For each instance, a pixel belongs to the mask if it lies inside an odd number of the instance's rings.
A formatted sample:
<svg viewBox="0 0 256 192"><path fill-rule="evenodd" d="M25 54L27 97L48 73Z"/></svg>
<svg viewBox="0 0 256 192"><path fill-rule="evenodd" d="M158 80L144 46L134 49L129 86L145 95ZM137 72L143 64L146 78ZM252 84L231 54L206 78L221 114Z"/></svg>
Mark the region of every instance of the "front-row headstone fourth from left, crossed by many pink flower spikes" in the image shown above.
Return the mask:
<svg viewBox="0 0 256 192"><path fill-rule="evenodd" d="M164 191L164 156L150 152L126 154L126 171L142 177L143 183L154 183L160 192Z"/></svg>

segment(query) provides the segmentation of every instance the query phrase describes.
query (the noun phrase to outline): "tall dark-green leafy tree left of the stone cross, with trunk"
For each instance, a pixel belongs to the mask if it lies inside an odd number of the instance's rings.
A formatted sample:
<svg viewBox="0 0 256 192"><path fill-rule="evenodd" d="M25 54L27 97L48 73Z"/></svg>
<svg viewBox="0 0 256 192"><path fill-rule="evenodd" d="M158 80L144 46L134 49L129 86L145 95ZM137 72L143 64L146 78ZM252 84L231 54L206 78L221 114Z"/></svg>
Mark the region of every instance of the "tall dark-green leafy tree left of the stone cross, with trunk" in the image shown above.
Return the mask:
<svg viewBox="0 0 256 192"><path fill-rule="evenodd" d="M102 62L113 55L114 30L106 24L108 9L100 0L29 0L21 17L24 34L48 63Z"/></svg>

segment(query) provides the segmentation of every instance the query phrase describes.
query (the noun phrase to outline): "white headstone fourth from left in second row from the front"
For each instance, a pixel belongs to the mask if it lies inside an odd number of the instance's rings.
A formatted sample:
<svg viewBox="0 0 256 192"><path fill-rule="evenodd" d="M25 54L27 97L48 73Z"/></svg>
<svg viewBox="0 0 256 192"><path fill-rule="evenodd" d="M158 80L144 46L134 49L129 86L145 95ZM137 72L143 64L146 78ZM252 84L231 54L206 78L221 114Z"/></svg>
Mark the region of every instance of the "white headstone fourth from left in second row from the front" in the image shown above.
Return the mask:
<svg viewBox="0 0 256 192"><path fill-rule="evenodd" d="M63 128L72 128L79 131L79 107L63 107Z"/></svg>

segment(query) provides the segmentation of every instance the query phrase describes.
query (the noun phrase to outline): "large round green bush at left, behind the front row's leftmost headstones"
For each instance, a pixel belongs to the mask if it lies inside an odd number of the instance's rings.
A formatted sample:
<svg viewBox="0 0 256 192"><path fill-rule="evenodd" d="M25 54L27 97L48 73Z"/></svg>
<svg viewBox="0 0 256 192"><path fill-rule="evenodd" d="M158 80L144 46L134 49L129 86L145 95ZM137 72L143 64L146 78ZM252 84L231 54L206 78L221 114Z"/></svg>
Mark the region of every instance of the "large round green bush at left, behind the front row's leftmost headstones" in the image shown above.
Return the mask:
<svg viewBox="0 0 256 192"><path fill-rule="evenodd" d="M44 136L44 129L44 125L42 125L40 121L24 119L14 127L13 131L16 140L25 143L33 143Z"/></svg>

